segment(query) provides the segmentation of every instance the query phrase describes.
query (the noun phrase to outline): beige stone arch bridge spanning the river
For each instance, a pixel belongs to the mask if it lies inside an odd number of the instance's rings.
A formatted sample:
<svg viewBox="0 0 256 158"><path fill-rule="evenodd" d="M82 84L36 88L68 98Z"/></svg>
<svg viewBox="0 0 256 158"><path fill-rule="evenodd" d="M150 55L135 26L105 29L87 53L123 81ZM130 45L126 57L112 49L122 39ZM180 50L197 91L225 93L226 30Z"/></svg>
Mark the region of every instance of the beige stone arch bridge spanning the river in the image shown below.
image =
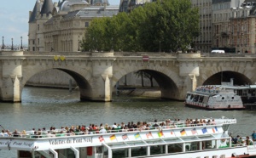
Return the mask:
<svg viewBox="0 0 256 158"><path fill-rule="evenodd" d="M143 56L146 57L143 59ZM147 59L148 57L148 59ZM161 98L183 100L197 85L256 82L255 54L167 54L129 52L0 51L0 100L20 102L26 82L49 69L65 71L77 82L81 100L111 101L119 79L146 71L159 83ZM221 76L220 76L221 74ZM221 78L221 79L220 79Z"/></svg>

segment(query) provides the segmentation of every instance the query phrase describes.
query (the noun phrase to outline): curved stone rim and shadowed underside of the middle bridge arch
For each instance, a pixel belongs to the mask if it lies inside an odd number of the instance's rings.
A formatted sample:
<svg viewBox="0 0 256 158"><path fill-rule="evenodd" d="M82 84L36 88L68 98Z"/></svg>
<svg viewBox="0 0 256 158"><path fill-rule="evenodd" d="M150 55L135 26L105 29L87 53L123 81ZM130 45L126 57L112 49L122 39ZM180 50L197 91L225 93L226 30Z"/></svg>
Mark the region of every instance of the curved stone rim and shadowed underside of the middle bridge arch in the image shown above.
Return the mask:
<svg viewBox="0 0 256 158"><path fill-rule="evenodd" d="M123 76L135 71L144 71L153 76L154 80L160 86L161 99L179 99L178 97L180 92L177 87L177 83L179 82L180 77L176 72L167 69L166 67L157 67L157 69L154 67L150 69L136 66L125 66L123 69L120 69L113 74L112 86L114 87Z"/></svg>

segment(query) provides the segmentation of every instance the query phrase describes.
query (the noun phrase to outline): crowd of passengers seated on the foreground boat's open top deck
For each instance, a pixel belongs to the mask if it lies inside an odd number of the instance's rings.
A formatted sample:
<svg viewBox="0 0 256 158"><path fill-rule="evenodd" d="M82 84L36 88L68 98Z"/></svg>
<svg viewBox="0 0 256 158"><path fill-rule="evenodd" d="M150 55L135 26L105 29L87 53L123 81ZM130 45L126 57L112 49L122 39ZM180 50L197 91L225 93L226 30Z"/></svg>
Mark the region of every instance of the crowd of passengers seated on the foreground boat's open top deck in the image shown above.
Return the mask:
<svg viewBox="0 0 256 158"><path fill-rule="evenodd" d="M186 119L185 121L180 121L179 119L175 119L171 121L171 119L166 119L166 121L157 121L154 122L146 122L146 121L137 121L136 122L128 122L128 123L116 123L108 126L108 123L103 125L102 123L98 126L96 124L90 124L89 126L81 125L81 126L71 126L71 127L49 127L49 129L32 128L31 131L26 132L23 130L18 132L15 129L15 132L10 133L9 130L2 130L0 133L0 137L30 137L30 138L41 138L41 137L60 137L60 136L69 136L69 135L80 135L80 134L91 134L91 133L118 133L118 132L129 132L129 131L142 131L142 130L150 130L150 129L164 129L164 128L173 128L173 127L195 127L195 126L206 126L206 125L214 125L214 119Z"/></svg>

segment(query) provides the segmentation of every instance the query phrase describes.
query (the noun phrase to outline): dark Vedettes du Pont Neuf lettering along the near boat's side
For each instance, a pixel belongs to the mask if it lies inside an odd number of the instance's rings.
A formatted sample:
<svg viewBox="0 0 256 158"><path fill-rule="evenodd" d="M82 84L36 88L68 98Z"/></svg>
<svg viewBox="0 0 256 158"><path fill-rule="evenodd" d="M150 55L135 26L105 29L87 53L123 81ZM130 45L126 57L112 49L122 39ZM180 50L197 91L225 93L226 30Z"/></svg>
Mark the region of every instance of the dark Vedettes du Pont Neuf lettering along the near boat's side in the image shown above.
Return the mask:
<svg viewBox="0 0 256 158"><path fill-rule="evenodd" d="M82 144L86 142L91 142L91 138L67 138L67 139L54 139L49 140L49 144L58 145L58 144Z"/></svg>

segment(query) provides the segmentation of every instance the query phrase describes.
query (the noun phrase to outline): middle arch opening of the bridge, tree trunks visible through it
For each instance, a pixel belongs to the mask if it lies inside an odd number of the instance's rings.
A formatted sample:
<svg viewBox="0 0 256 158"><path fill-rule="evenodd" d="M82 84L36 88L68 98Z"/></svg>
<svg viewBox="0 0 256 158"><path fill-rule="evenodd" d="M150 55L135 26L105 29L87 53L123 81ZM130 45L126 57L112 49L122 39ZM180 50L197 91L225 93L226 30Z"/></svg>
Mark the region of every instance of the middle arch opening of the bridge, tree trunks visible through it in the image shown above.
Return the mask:
<svg viewBox="0 0 256 158"><path fill-rule="evenodd" d="M159 71L139 70L126 74L114 85L113 93L157 99L178 100L179 90L172 78ZM118 94L119 94L118 93Z"/></svg>

